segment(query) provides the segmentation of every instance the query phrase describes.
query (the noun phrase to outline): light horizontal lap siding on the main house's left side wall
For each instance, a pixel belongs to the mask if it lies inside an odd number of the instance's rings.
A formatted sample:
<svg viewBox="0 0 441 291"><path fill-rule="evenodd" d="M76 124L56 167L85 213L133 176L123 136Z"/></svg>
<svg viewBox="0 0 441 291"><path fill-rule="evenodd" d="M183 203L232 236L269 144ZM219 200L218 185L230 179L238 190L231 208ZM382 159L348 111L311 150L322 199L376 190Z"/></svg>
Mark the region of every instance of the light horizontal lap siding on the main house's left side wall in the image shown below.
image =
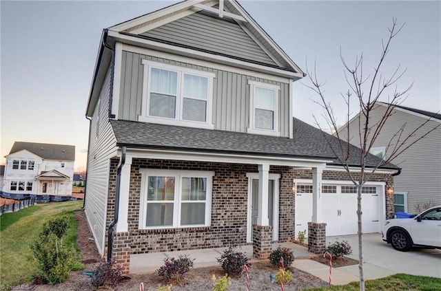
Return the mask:
<svg viewBox="0 0 441 291"><path fill-rule="evenodd" d="M111 70L108 69L99 94L99 102L96 103L92 116L89 133L88 186L85 195L86 215L101 255L105 244L110 158L116 155L116 138L109 122L110 74Z"/></svg>

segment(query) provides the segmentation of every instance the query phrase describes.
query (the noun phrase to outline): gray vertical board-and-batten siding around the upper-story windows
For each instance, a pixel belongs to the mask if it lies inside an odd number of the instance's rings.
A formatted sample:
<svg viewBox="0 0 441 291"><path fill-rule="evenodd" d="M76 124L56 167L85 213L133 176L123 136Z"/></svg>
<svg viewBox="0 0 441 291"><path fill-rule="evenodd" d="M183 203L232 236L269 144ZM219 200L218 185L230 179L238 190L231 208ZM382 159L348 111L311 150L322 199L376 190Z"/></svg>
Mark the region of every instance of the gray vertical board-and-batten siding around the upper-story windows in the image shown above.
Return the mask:
<svg viewBox="0 0 441 291"><path fill-rule="evenodd" d="M214 73L216 78L213 84L212 122L214 129L218 130L247 132L247 127L249 127L248 80L280 86L278 108L280 136L289 137L289 118L291 118L289 107L291 105L289 104L288 83L126 51L123 51L122 55L118 119L137 121L142 107L145 106L142 102L143 65L141 60L143 59Z"/></svg>

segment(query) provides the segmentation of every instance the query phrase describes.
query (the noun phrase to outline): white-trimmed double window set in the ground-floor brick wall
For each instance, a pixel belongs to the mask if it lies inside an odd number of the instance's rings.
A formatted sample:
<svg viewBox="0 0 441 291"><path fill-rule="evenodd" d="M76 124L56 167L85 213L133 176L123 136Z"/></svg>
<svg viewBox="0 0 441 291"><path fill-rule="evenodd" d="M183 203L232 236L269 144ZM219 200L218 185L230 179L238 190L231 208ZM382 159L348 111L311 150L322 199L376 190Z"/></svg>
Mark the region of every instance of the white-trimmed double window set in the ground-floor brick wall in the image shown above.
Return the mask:
<svg viewBox="0 0 441 291"><path fill-rule="evenodd" d="M209 226L214 172L140 169L139 228Z"/></svg>

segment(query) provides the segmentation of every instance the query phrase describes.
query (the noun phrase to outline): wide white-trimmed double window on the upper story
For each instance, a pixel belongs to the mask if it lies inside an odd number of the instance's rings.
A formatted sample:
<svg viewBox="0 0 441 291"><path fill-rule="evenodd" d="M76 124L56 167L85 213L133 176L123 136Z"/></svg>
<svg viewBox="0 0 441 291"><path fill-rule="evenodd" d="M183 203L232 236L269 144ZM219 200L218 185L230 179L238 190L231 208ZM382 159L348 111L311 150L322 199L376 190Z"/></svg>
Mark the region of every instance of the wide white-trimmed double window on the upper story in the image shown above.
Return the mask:
<svg viewBox="0 0 441 291"><path fill-rule="evenodd" d="M140 121L214 129L214 73L143 60Z"/></svg>

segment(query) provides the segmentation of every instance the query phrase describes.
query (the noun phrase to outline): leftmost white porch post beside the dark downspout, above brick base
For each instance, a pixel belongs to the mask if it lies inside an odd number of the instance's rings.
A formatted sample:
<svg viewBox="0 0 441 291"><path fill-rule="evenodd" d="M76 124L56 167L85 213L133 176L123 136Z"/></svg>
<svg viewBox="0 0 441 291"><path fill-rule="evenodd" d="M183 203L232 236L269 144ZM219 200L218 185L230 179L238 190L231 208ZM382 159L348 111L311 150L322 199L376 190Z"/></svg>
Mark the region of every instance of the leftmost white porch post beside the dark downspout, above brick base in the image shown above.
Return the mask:
<svg viewBox="0 0 441 291"><path fill-rule="evenodd" d="M121 184L119 189L119 217L116 224L116 233L129 231L127 217L129 214L129 191L130 191L130 169L132 169L132 157L126 156L123 169L121 169Z"/></svg>

